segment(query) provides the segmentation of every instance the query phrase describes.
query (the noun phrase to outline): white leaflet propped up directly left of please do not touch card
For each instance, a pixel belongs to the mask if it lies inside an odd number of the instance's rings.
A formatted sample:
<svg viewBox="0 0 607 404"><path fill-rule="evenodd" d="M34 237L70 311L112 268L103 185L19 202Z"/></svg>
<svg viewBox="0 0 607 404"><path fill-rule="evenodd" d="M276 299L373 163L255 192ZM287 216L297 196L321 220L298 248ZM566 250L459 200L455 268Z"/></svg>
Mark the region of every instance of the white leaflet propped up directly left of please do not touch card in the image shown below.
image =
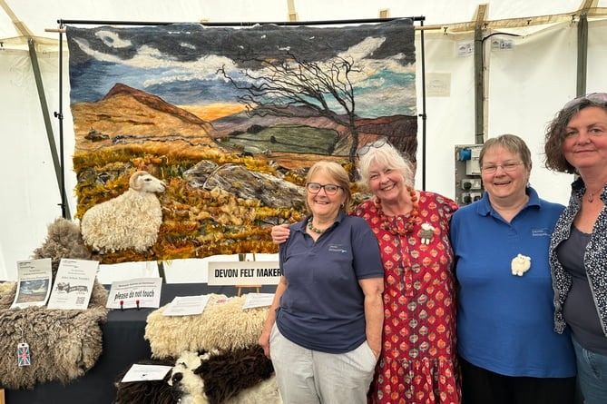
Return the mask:
<svg viewBox="0 0 607 404"><path fill-rule="evenodd" d="M49 309L81 309L89 306L98 261L62 259L59 262Z"/></svg>

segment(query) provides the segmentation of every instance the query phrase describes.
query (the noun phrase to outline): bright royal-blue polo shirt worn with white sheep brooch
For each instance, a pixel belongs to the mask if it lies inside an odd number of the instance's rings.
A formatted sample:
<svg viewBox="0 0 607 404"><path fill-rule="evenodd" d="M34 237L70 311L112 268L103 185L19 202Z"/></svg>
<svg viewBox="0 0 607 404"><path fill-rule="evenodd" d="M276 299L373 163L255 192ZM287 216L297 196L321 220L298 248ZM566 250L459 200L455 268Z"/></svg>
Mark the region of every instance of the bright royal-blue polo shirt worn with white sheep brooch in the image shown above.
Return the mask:
<svg viewBox="0 0 607 404"><path fill-rule="evenodd" d="M575 375L568 333L553 331L553 287L548 246L563 205L529 202L508 223L483 198L451 219L459 282L457 350L468 362L505 376L566 378ZM512 274L517 254L531 269Z"/></svg>

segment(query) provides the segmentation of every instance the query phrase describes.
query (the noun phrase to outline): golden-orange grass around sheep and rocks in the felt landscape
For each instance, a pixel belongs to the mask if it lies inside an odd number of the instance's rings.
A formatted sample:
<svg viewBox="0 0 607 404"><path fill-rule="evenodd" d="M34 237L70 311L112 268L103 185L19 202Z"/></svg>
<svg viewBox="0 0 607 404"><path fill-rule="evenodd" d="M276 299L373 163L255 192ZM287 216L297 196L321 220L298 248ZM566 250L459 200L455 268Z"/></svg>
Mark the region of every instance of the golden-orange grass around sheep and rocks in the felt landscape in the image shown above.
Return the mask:
<svg viewBox="0 0 607 404"><path fill-rule="evenodd" d="M81 218L93 205L125 192L129 187L129 176L136 170L152 172L167 184L166 191L159 195L163 219L152 251L106 253L100 257L102 263L150 259L170 261L215 254L278 251L269 235L271 223L276 218L297 222L303 218L303 212L260 206L259 200L245 201L219 189L207 191L191 188L181 175L205 158L220 165L240 163L252 171L275 173L263 159L216 153L212 150L208 153L175 153L174 149L165 150L162 144L152 148L123 145L112 150L78 153L73 157L74 169L79 177L76 186L79 202L76 218ZM108 175L104 183L99 182L101 173ZM294 174L288 177L297 183L303 181Z"/></svg>

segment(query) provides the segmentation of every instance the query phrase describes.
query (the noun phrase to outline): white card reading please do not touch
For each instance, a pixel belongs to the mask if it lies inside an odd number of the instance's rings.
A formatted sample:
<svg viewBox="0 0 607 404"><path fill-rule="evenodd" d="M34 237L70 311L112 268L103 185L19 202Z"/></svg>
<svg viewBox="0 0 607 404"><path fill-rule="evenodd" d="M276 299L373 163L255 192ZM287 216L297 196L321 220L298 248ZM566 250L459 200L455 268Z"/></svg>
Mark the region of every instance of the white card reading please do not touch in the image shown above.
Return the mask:
<svg viewBox="0 0 607 404"><path fill-rule="evenodd" d="M161 288L162 278L114 281L105 307L108 309L132 309L136 307L158 309L161 304Z"/></svg>

